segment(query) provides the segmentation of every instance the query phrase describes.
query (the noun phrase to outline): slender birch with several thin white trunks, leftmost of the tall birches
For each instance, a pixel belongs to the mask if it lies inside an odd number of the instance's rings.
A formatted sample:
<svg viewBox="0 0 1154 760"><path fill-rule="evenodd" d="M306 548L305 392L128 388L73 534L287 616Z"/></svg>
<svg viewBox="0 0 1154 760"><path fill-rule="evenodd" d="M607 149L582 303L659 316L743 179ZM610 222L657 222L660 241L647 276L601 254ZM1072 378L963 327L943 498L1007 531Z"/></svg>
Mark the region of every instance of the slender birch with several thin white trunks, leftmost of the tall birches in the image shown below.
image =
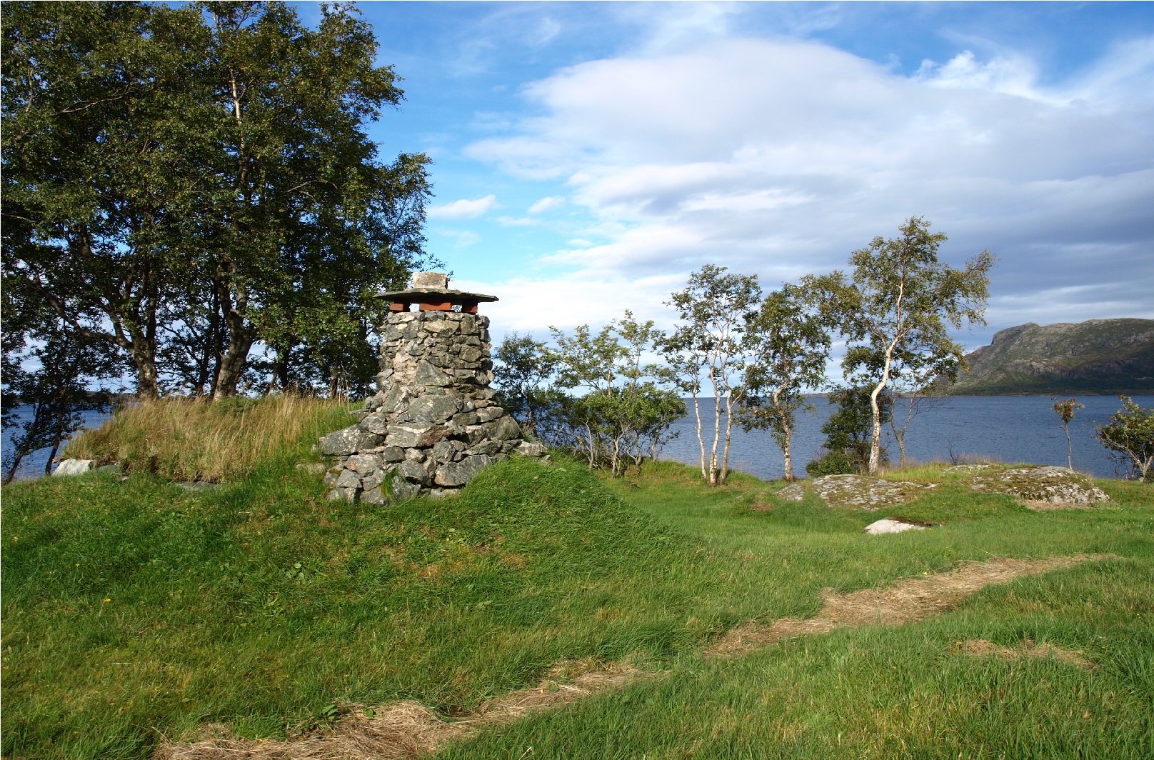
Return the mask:
<svg viewBox="0 0 1154 760"><path fill-rule="evenodd" d="M733 412L745 398L747 372L756 365L758 340L751 327L760 300L762 289L755 275L726 274L725 267L705 264L689 276L688 286L673 293L668 303L682 323L660 341L660 347L679 387L692 396L702 478L710 485L725 485L729 472ZM703 388L713 394L710 445L702 430ZM719 456L722 429L725 445Z"/></svg>

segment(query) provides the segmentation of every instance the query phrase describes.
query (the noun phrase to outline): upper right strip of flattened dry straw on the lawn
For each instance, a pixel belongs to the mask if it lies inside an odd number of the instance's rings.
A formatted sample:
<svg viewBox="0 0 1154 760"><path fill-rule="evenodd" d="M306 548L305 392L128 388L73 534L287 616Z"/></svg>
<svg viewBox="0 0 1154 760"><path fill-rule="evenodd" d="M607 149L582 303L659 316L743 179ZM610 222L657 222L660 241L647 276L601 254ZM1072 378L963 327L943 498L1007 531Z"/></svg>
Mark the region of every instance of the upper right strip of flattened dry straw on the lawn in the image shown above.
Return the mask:
<svg viewBox="0 0 1154 760"><path fill-rule="evenodd" d="M995 583L1036 575L1078 562L1104 559L1109 554L1074 554L1043 559L996 557L984 562L966 561L947 573L907 578L884 589L863 589L852 594L822 591L822 610L812 618L781 618L770 625L754 620L732 628L706 654L736 657L758 647L840 627L864 625L907 625L957 606L971 594Z"/></svg>

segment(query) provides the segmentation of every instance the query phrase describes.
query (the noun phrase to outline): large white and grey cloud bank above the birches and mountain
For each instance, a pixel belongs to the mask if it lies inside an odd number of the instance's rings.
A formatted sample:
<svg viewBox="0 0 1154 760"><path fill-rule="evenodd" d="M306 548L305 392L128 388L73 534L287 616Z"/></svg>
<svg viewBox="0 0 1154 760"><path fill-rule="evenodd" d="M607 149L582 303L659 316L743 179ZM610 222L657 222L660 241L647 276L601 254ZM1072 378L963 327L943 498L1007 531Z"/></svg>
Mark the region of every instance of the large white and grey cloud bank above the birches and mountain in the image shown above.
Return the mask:
<svg viewBox="0 0 1154 760"><path fill-rule="evenodd" d="M1012 53L965 52L906 77L817 43L725 39L562 69L525 88L540 116L469 151L568 181L593 219L571 234L599 243L545 263L576 270L557 286L580 282L592 303L594 282L704 262L772 285L844 266L923 215L950 234L952 263L987 247L1002 258L991 321L1022 314L1005 298L1148 314L1154 44L1040 80ZM1063 290L1073 285L1089 290Z"/></svg>

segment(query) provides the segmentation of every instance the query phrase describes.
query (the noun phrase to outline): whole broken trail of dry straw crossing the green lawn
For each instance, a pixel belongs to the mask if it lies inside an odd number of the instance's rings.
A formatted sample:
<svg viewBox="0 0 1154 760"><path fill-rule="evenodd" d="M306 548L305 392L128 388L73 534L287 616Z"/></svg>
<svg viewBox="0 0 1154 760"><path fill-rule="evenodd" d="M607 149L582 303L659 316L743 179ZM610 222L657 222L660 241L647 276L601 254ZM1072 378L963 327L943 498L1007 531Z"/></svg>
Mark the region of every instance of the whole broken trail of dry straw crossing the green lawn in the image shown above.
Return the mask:
<svg viewBox="0 0 1154 760"><path fill-rule="evenodd" d="M711 657L739 657L759 647L833 628L862 625L906 625L953 609L971 594L987 586L1009 583L1016 578L1036 575L1078 562L1104 559L1110 554L1076 554L1048 559L994 558L984 562L966 561L957 569L924 578L902 579L884 589L853 594L822 595L817 616L801 620L782 618L770 625L756 621L730 629L706 650ZM1005 656L1001 648L975 644L968 654ZM979 651L980 650L980 651ZM1010 651L1010 650L1006 650ZM1025 653L1027 656L1037 656ZM1047 651L1048 656L1063 656ZM482 705L475 713L444 721L420 702L397 702L366 714L364 706L350 706L350 713L328 729L287 742L241 739L225 727L207 727L195 742L165 740L156 760L397 760L433 754L449 742L475 735L484 728L509 723L524 715L568 705L607 688L622 688L638 678L654 673L628 665L593 669L589 663L561 663L534 688L512 692ZM563 680L561 680L563 678Z"/></svg>

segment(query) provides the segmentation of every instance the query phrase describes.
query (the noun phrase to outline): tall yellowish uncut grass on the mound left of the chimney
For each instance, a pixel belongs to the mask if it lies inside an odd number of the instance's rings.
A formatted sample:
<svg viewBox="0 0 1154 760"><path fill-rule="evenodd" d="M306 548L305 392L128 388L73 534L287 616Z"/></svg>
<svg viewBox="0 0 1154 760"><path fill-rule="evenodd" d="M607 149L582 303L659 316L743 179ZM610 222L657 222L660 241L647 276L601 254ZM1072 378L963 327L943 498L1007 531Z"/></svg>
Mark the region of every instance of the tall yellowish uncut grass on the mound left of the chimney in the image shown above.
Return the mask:
<svg viewBox="0 0 1154 760"><path fill-rule="evenodd" d="M287 448L315 442L317 433L338 423L346 407L295 395L147 401L82 432L68 444L65 456L119 462L126 471L175 480L219 483L250 472Z"/></svg>

